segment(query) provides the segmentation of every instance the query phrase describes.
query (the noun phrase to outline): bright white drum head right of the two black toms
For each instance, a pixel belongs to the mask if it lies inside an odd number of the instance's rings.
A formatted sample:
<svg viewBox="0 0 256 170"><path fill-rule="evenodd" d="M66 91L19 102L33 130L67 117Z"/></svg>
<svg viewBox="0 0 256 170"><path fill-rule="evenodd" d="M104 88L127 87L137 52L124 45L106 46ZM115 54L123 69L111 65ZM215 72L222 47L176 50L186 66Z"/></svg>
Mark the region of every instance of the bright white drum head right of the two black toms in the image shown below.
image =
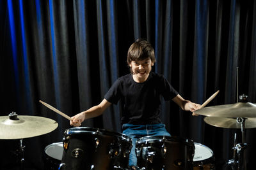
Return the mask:
<svg viewBox="0 0 256 170"><path fill-rule="evenodd" d="M194 162L209 159L212 157L213 152L210 148L200 143L194 143L194 144L195 144L195 155L193 158Z"/></svg>

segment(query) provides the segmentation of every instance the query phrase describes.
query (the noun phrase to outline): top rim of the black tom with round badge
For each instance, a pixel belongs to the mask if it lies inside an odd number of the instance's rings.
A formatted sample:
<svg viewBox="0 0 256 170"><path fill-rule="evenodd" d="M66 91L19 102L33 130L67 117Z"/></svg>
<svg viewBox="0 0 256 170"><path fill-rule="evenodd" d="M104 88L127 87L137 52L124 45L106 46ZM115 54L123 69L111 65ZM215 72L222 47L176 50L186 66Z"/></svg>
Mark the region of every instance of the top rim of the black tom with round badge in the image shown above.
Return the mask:
<svg viewBox="0 0 256 170"><path fill-rule="evenodd" d="M94 130L94 131L88 131L88 130ZM71 127L70 129L67 129L64 133L65 136L72 135L72 134L80 134L80 133L90 133L94 132L94 134L97 134L97 131L103 132L104 135L111 135L111 136L116 136L122 139L126 139L127 141L132 141L132 139L120 132L115 132L115 131L110 131L106 129L100 129L100 128L95 128L95 127Z"/></svg>

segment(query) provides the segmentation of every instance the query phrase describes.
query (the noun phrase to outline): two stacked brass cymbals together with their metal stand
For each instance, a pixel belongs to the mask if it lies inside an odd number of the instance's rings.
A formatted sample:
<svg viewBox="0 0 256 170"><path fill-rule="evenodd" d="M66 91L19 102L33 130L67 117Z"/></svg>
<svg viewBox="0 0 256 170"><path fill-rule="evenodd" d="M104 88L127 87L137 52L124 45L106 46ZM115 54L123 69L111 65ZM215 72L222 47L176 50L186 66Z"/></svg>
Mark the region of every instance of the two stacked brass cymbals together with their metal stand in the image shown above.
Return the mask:
<svg viewBox="0 0 256 170"><path fill-rule="evenodd" d="M232 169L246 170L244 149L245 129L256 127L256 104L248 103L247 96L239 96L240 101L236 104L226 104L220 106L211 106L196 110L198 115L205 115L205 123L216 127L241 129L242 143L237 144L236 134L234 136L233 159L228 160L227 164Z"/></svg>

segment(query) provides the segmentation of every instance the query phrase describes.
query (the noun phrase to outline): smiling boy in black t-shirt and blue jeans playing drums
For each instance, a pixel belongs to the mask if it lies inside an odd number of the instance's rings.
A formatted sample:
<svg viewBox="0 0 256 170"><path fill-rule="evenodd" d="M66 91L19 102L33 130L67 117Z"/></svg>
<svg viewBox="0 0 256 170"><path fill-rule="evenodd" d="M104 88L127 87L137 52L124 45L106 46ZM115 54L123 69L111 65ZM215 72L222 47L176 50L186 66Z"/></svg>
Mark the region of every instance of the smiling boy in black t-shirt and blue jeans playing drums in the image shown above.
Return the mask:
<svg viewBox="0 0 256 170"><path fill-rule="evenodd" d="M132 138L129 166L135 169L137 158L135 144L143 136L170 136L159 118L161 96L165 101L174 101L182 110L195 111L200 104L183 99L161 75L151 72L156 62L154 49L143 39L137 39L127 53L127 64L131 74L118 78L103 101L89 110L83 111L70 121L70 125L80 126L88 118L102 115L112 103L121 101L122 133Z"/></svg>

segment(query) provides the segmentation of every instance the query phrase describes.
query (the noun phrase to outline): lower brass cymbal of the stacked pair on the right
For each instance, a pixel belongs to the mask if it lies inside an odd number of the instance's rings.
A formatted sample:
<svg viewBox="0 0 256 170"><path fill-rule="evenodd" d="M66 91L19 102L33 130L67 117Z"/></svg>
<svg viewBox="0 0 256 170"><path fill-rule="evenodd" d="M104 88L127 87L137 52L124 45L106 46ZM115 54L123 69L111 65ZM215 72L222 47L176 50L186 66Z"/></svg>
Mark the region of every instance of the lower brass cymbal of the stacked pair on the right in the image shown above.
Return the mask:
<svg viewBox="0 0 256 170"><path fill-rule="evenodd" d="M237 123L237 118L224 118L224 117L205 117L204 122L216 127L241 129L241 124ZM245 118L244 128L250 129L256 127L256 118Z"/></svg>

